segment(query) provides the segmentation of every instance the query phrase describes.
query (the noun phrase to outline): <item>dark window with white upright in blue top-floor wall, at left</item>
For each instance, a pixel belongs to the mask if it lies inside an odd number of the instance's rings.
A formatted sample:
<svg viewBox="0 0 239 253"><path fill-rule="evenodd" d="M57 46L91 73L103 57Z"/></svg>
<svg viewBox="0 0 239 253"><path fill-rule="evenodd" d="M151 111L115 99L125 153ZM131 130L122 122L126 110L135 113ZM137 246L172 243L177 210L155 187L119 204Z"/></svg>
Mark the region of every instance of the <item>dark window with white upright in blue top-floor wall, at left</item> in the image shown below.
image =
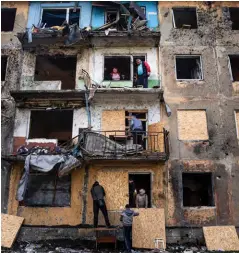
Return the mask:
<svg viewBox="0 0 239 253"><path fill-rule="evenodd" d="M80 9L67 8L67 9L43 9L42 10L42 26L61 26L64 21L72 25L80 24Z"/></svg>

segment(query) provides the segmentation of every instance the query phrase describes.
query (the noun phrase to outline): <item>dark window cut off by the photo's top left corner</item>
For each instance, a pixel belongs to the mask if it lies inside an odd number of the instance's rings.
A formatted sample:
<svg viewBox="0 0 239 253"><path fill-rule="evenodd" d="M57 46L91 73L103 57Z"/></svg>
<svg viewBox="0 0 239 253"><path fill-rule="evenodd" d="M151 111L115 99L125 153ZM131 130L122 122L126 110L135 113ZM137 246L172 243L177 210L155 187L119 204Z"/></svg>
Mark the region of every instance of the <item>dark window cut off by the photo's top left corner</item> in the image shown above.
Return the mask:
<svg viewBox="0 0 239 253"><path fill-rule="evenodd" d="M11 32L14 28L16 17L16 8L2 8L1 30L2 32Z"/></svg>

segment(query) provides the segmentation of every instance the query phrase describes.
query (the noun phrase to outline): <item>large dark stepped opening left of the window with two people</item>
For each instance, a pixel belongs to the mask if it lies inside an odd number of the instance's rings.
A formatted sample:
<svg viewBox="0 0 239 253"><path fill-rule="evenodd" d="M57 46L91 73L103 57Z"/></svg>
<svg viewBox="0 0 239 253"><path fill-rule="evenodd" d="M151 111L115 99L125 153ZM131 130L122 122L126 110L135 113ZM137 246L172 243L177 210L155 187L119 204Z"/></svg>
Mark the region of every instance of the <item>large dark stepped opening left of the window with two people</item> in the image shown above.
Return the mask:
<svg viewBox="0 0 239 253"><path fill-rule="evenodd" d="M75 89L76 56L37 56L36 81L61 81L61 89Z"/></svg>

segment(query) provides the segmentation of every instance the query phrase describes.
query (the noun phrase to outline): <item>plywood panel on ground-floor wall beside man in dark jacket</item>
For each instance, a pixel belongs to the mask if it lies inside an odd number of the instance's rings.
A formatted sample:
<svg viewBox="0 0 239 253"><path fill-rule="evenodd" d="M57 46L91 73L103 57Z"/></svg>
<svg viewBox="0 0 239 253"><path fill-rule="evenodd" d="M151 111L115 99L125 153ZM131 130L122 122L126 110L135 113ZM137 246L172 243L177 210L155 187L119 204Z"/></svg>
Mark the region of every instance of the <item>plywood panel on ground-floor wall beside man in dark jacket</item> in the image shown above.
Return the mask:
<svg viewBox="0 0 239 253"><path fill-rule="evenodd" d="M128 173L125 171L100 170L97 181L104 187L108 210L120 210L129 202Z"/></svg>

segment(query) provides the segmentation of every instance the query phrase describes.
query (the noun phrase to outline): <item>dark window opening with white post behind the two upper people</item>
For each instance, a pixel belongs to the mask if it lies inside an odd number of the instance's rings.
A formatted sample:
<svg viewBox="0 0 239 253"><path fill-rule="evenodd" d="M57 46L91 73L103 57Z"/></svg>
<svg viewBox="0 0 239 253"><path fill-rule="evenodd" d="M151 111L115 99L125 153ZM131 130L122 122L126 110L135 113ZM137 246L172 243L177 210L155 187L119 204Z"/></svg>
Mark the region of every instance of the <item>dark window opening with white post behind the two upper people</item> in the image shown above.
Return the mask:
<svg viewBox="0 0 239 253"><path fill-rule="evenodd" d="M133 80L137 72L136 59L145 61L145 56L105 56L104 80L112 80L113 68L116 68L119 74L118 81Z"/></svg>

